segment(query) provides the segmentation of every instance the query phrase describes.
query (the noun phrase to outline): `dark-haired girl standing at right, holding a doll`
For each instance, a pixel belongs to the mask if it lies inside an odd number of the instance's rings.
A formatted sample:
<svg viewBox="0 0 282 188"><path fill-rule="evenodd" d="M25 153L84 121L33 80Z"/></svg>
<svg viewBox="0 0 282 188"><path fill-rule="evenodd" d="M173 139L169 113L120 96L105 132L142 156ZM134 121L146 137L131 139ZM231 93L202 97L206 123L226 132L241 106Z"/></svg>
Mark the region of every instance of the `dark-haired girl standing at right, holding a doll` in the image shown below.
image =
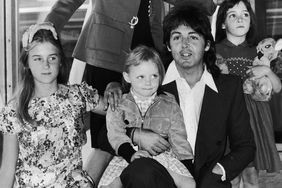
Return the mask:
<svg viewBox="0 0 282 188"><path fill-rule="evenodd" d="M277 93L281 90L281 81L269 67L255 66L250 69L256 56L255 28L254 13L248 0L225 0L217 15L216 51L226 61L229 74L239 75L243 81L249 76L266 76L271 81L272 92ZM281 164L274 141L269 103L255 101L249 94L245 94L245 101L257 150L254 162L243 171L242 180L244 187L258 187L258 171L279 172Z"/></svg>

